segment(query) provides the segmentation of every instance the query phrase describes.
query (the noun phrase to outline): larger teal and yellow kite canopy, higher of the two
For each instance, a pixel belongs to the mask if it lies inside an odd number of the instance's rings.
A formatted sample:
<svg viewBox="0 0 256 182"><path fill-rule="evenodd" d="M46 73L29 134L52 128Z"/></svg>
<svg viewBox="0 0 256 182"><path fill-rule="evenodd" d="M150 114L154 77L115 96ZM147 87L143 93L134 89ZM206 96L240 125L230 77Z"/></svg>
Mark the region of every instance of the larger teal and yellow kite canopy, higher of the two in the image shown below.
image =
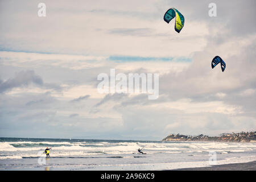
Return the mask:
<svg viewBox="0 0 256 182"><path fill-rule="evenodd" d="M184 16L178 10L176 10L175 8L167 10L166 14L164 14L164 21L169 23L174 17L176 17L175 31L179 33L184 26L185 19Z"/></svg>

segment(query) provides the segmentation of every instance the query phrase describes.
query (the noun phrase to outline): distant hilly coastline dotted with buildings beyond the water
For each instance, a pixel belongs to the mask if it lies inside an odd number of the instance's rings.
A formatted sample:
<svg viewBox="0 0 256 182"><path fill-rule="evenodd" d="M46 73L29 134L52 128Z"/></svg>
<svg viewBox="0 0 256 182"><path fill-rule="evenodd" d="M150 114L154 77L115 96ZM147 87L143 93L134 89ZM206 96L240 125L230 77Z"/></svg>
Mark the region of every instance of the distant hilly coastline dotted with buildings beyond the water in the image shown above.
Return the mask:
<svg viewBox="0 0 256 182"><path fill-rule="evenodd" d="M162 141L201 141L201 142L256 142L256 131L241 133L222 133L220 137L208 137L207 135L180 135L170 134Z"/></svg>

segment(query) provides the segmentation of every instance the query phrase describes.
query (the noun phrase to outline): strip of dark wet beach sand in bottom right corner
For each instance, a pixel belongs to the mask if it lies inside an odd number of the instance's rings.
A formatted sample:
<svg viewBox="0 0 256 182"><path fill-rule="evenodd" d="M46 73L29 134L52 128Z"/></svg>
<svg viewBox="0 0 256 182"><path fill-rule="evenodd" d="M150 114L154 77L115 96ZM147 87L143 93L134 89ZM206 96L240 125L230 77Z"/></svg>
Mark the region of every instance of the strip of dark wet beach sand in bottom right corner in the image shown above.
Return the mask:
<svg viewBox="0 0 256 182"><path fill-rule="evenodd" d="M249 163L223 164L211 167L183 168L175 171L256 171L256 160Z"/></svg>

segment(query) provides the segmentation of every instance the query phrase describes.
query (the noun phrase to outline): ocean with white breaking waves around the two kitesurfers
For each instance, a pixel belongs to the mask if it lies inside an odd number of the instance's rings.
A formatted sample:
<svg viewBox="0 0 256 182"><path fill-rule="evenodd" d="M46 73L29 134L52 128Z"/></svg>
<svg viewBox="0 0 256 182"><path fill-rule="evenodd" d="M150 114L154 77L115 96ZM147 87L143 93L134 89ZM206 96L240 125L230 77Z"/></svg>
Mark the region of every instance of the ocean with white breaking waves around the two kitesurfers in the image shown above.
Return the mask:
<svg viewBox="0 0 256 182"><path fill-rule="evenodd" d="M256 143L0 138L0 170L166 170L254 160Z"/></svg>

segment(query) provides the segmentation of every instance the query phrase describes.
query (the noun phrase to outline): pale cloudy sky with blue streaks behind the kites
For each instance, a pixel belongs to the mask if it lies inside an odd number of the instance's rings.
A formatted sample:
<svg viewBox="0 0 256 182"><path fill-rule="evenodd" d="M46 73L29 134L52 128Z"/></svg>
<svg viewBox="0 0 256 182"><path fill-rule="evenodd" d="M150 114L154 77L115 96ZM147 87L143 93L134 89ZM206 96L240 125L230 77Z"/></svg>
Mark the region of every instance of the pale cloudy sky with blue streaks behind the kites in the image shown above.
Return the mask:
<svg viewBox="0 0 256 182"><path fill-rule="evenodd" d="M0 137L160 140L255 130L255 5L1 0ZM171 7L185 16L180 34L163 20ZM211 68L216 55L223 73ZM159 73L159 98L98 93L97 76L112 68Z"/></svg>

